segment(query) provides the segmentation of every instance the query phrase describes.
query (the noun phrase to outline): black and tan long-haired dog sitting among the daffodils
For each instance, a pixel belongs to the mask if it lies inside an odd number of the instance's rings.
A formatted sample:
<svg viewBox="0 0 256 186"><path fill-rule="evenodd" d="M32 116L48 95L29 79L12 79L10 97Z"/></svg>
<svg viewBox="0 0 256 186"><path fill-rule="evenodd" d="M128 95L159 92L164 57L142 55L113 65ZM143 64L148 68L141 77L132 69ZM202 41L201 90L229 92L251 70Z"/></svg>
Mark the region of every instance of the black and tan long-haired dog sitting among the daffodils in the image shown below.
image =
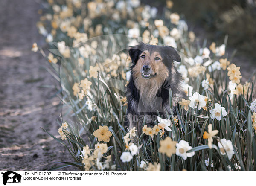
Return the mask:
<svg viewBox="0 0 256 186"><path fill-rule="evenodd" d="M176 103L186 94L181 87L182 76L177 72L174 61L181 58L172 46L157 46L139 43L130 47L131 76L127 85L128 128L136 127L141 134L145 124L155 125L158 114L166 117L171 113L169 89L172 90L173 113Z"/></svg>

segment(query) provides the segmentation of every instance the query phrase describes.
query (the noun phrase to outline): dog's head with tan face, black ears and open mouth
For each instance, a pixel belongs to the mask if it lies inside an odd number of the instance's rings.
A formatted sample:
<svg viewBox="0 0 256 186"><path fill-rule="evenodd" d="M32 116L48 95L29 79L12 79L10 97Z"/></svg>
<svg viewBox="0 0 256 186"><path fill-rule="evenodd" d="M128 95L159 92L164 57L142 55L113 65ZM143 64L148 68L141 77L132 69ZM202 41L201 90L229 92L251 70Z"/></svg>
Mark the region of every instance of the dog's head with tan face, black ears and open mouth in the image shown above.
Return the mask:
<svg viewBox="0 0 256 186"><path fill-rule="evenodd" d="M165 80L173 69L173 61L180 62L180 55L171 46L140 43L129 49L134 78Z"/></svg>

